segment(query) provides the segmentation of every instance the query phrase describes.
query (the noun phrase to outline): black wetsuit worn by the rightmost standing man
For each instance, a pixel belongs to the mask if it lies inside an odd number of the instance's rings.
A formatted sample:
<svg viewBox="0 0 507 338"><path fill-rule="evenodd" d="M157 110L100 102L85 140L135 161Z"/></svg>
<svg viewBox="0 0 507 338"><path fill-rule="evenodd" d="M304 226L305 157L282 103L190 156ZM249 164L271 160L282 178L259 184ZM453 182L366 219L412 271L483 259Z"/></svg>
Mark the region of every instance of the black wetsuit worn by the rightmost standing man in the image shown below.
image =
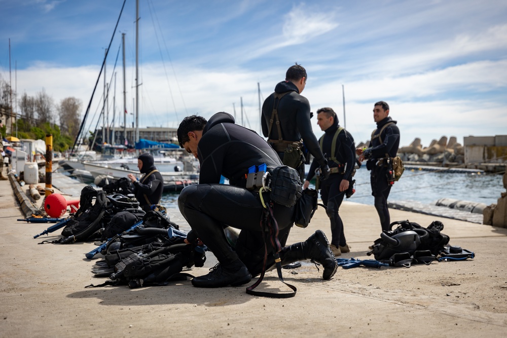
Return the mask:
<svg viewBox="0 0 507 338"><path fill-rule="evenodd" d="M382 143L380 143L380 138L376 136L379 134L382 127L389 122L392 123L387 126L380 135L382 139ZM388 168L386 166L379 166L377 163L379 159L385 158L386 154L389 157L395 157L399 145L400 129L396 126L396 121L392 120L390 117L386 117L384 120L378 122L377 130L374 132L370 147L368 148L368 152L371 153L371 156L366 163L366 167L368 170L371 170L370 182L372 185L372 195L375 197L375 209L377 209L377 213L379 214L383 231L389 230L389 223L391 222L389 209L387 208L387 198L391 191L391 185L387 181Z"/></svg>

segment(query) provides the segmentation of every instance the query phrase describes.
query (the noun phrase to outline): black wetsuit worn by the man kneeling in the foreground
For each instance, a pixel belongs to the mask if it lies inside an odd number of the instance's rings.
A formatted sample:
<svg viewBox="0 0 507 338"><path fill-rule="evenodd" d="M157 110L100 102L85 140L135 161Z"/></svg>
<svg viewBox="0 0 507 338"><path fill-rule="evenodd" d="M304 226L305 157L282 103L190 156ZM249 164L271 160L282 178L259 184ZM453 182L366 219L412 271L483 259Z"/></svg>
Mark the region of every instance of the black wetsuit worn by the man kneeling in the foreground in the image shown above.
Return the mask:
<svg viewBox="0 0 507 338"><path fill-rule="evenodd" d="M197 155L199 184L185 187L178 198L179 210L192 228L187 239L192 242L199 237L221 264L240 258L252 275L260 273L256 267L264 256L263 206L259 194L245 188L245 174L249 167L263 163L272 172L281 165L280 159L262 137L234 124L226 112L209 119ZM229 185L219 184L221 175L229 179ZM282 246L294 222L294 208L273 207ZM241 229L235 250L227 242L226 226ZM268 252L272 251L268 241Z"/></svg>

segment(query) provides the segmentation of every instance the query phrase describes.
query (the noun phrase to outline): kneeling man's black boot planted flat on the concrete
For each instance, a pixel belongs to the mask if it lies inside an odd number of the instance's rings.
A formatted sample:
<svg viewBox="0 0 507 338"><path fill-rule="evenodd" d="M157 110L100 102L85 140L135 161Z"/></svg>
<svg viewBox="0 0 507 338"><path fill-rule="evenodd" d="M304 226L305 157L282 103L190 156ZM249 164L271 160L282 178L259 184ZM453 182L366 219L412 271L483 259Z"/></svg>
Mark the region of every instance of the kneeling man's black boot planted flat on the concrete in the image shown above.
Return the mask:
<svg viewBox="0 0 507 338"><path fill-rule="evenodd" d="M239 259L227 265L219 263L209 270L207 275L193 278L192 285L196 287L238 286L252 279L248 269Z"/></svg>

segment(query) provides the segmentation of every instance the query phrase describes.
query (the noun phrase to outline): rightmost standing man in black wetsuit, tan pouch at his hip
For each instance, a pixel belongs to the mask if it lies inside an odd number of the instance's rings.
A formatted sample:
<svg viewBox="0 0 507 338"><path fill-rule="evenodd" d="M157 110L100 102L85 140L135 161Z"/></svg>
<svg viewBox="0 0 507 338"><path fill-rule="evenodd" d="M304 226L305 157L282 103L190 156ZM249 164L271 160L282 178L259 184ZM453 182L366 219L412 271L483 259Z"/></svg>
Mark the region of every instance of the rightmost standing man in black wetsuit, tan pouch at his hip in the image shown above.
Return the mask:
<svg viewBox="0 0 507 338"><path fill-rule="evenodd" d="M400 145L400 129L396 126L396 121L389 115L389 105L384 101L375 103L373 108L373 119L377 123L377 129L372 133L370 146L367 149L356 149L359 155L359 161L364 159L366 168L371 170L370 182L372 185L372 195L375 197L375 209L380 217L382 231L389 230L391 222L389 209L387 208L387 197L391 191L392 180L388 178L390 165L387 158L393 158L398 152Z"/></svg>

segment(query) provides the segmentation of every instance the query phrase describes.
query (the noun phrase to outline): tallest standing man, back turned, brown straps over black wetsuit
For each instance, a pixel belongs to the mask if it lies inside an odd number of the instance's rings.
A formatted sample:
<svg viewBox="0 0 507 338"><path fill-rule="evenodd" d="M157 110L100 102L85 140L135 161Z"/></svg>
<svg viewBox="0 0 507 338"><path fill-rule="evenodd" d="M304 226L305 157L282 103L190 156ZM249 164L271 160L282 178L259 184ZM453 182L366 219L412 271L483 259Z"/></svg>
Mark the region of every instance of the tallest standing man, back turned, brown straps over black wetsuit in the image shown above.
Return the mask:
<svg viewBox="0 0 507 338"><path fill-rule="evenodd" d="M310 103L302 95L306 86L306 70L299 64L287 69L285 81L275 87L262 105L262 133L275 149L282 163L298 170L301 182L305 177L303 144L321 168L323 178L329 176L326 163L310 122Z"/></svg>

